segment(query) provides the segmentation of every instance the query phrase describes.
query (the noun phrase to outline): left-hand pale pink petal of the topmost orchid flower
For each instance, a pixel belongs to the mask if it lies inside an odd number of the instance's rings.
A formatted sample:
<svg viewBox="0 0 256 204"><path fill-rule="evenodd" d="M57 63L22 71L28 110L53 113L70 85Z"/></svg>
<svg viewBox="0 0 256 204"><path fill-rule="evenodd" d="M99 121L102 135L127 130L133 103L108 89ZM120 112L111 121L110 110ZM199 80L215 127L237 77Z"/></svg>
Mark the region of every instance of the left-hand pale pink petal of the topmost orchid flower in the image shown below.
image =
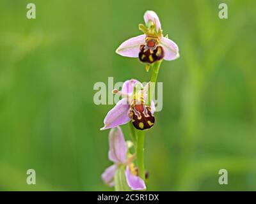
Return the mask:
<svg viewBox="0 0 256 204"><path fill-rule="evenodd" d="M139 57L140 45L145 43L145 34L130 38L124 41L117 49L116 53L124 57Z"/></svg>

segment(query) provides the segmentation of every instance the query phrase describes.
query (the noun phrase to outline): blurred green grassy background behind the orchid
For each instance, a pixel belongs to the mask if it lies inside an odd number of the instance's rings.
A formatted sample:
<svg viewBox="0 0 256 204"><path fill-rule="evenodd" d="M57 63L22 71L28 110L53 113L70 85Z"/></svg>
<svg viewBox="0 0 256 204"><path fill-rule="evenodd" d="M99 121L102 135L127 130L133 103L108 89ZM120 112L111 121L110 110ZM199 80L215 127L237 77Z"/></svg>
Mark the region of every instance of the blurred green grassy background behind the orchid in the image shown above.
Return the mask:
<svg viewBox="0 0 256 204"><path fill-rule="evenodd" d="M147 132L148 190L256 190L256 1L33 0L0 3L0 190L112 190L113 105L93 103L95 82L148 81L115 49L141 34L146 10L180 48L164 61L163 110ZM228 4L228 19L218 5ZM129 138L129 128L122 126ZM36 170L36 185L26 171ZM228 170L228 185L218 171Z"/></svg>

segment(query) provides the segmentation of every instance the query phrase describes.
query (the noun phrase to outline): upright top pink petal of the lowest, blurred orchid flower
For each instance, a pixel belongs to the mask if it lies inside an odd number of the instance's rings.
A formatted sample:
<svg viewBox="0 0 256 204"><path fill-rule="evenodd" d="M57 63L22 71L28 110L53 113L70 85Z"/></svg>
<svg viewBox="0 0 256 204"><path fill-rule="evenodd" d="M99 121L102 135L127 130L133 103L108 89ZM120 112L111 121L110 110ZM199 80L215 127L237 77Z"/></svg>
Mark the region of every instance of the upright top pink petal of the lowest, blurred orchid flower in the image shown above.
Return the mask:
<svg viewBox="0 0 256 204"><path fill-rule="evenodd" d="M117 126L109 132L109 160L117 164L126 163L127 146L124 140L122 129Z"/></svg>

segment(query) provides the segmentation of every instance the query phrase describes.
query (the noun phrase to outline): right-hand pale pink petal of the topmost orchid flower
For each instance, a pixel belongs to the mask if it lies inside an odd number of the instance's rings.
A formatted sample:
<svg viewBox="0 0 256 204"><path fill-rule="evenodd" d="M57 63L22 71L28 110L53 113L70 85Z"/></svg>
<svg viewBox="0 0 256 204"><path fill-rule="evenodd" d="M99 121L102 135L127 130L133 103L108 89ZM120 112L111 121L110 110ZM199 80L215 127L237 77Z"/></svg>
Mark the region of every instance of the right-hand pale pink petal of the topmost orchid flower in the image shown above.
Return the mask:
<svg viewBox="0 0 256 204"><path fill-rule="evenodd" d="M160 44L164 48L164 59L167 61L172 61L179 57L179 47L175 42L168 38L161 38Z"/></svg>

